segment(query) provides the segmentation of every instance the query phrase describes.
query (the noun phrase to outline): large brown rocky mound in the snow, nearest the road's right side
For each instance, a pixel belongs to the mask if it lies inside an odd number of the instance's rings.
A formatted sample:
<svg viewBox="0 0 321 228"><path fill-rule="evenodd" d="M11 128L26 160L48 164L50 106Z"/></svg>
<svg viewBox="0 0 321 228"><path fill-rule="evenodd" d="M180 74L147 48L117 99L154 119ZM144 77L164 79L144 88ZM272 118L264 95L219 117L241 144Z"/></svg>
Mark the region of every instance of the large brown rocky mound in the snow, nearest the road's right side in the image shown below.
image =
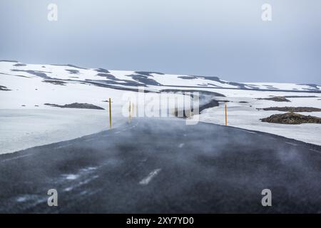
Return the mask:
<svg viewBox="0 0 321 228"><path fill-rule="evenodd" d="M282 124L321 123L321 118L311 115L301 115L297 113L275 114L261 120L262 122L267 123Z"/></svg>

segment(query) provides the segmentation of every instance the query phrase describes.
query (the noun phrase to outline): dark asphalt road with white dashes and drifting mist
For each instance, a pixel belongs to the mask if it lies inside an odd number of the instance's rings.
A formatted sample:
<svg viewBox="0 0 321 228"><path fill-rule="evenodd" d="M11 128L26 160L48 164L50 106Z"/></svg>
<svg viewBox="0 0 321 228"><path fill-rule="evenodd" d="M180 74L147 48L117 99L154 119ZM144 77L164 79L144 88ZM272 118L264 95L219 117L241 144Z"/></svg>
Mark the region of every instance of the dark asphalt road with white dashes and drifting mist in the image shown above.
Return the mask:
<svg viewBox="0 0 321 228"><path fill-rule="evenodd" d="M47 191L58 191L49 207ZM263 207L263 189L272 207ZM183 119L0 155L0 212L321 213L321 149Z"/></svg>

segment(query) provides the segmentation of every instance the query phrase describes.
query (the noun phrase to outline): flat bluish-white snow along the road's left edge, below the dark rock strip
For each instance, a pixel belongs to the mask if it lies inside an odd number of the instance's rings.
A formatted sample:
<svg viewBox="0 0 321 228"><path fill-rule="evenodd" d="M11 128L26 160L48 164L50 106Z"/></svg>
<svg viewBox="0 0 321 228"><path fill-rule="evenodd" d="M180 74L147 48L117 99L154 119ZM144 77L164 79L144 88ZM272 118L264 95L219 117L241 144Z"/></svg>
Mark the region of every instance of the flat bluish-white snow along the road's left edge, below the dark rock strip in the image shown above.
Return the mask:
<svg viewBox="0 0 321 228"><path fill-rule="evenodd" d="M1 109L0 121L2 154L108 129L108 118L101 110Z"/></svg>

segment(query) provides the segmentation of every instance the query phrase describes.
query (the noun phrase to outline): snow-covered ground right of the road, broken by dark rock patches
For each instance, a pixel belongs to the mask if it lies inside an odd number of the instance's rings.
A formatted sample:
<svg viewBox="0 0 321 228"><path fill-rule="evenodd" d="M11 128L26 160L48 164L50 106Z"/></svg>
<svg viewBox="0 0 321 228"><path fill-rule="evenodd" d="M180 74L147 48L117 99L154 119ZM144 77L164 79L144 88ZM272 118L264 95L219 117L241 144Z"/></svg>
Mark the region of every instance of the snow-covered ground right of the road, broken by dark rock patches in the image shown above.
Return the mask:
<svg viewBox="0 0 321 228"><path fill-rule="evenodd" d="M224 93L223 93L224 94ZM257 94L258 95L258 94ZM273 93L273 95L280 95ZM287 95L290 95L287 93ZM303 94L301 94L303 95ZM308 95L308 94L307 94ZM312 94L310 94L312 95ZM316 94L317 95L317 94ZM255 98L255 95L253 96ZM270 115L284 113L279 111L257 110L256 108L269 107L315 107L321 108L320 98L287 98L289 102L274 102L270 100L256 100L253 98L235 98L229 97L227 94L226 100L228 103L228 125L247 130L257 130L265 133L281 135L286 138L292 138L303 142L309 142L315 145L321 145L321 125L320 124L301 124L301 125L284 125L276 123L263 123L260 121ZM240 101L248 101L248 103L240 103ZM252 105L252 107L250 107ZM300 113L302 115L313 115L321 118L321 112ZM200 120L207 123L224 124L223 107L209 108L204 110L200 115Z"/></svg>

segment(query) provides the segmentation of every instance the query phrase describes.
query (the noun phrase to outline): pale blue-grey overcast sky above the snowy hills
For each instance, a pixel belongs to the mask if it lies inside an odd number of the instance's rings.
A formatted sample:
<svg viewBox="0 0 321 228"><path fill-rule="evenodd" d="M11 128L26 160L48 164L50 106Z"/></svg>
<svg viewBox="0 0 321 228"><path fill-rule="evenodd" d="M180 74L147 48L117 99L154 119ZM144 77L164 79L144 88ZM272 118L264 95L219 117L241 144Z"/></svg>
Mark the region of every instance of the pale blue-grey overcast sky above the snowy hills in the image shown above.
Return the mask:
<svg viewBox="0 0 321 228"><path fill-rule="evenodd" d="M320 0L1 0L0 59L321 84L320 12Z"/></svg>

